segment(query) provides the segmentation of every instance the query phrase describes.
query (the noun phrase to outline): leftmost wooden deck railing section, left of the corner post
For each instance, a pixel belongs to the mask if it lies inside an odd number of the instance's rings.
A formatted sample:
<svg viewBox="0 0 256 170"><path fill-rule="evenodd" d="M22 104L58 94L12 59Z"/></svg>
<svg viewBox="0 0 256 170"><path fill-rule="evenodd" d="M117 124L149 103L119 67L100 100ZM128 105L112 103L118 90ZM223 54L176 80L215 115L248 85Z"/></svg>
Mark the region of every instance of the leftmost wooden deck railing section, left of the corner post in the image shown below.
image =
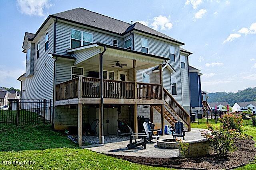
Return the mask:
<svg viewBox="0 0 256 170"><path fill-rule="evenodd" d="M78 77L56 85L56 100L78 98Z"/></svg>

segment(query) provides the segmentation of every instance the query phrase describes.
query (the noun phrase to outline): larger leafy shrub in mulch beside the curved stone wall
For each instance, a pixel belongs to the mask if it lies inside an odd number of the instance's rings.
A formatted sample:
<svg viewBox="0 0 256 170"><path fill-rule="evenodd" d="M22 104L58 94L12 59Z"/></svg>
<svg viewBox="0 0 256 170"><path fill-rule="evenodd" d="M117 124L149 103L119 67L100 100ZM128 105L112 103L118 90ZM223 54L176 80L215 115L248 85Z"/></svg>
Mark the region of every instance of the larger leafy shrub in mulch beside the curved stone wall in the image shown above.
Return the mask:
<svg viewBox="0 0 256 170"><path fill-rule="evenodd" d="M233 152L236 147L234 140L240 136L238 130L228 130L226 128L214 128L208 125L209 131L203 131L202 136L207 138L214 152L220 157L228 156L228 153Z"/></svg>

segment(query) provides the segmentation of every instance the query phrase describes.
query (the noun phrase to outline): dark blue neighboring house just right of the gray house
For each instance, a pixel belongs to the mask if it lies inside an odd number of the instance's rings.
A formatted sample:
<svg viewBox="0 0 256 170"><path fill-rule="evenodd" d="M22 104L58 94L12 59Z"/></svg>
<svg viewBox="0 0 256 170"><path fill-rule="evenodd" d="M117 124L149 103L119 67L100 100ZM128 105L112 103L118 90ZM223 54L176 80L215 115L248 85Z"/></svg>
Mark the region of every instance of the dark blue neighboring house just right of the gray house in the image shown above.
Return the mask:
<svg viewBox="0 0 256 170"><path fill-rule="evenodd" d="M202 89L201 89L201 76L200 70L192 66L189 68L189 79L190 79L190 101L191 108L196 110L202 110Z"/></svg>

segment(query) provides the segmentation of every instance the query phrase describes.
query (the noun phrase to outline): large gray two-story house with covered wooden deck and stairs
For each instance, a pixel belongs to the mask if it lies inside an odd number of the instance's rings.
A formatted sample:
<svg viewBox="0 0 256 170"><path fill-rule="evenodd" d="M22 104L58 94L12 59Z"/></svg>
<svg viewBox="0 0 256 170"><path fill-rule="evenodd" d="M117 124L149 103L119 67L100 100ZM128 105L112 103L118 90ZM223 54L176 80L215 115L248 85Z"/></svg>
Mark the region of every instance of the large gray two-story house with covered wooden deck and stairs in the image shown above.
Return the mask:
<svg viewBox="0 0 256 170"><path fill-rule="evenodd" d="M100 136L138 116L190 130L188 56L184 43L138 22L129 24L83 8L48 16L25 33L22 99L51 99L56 129L86 127ZM187 111L186 111L187 110Z"/></svg>

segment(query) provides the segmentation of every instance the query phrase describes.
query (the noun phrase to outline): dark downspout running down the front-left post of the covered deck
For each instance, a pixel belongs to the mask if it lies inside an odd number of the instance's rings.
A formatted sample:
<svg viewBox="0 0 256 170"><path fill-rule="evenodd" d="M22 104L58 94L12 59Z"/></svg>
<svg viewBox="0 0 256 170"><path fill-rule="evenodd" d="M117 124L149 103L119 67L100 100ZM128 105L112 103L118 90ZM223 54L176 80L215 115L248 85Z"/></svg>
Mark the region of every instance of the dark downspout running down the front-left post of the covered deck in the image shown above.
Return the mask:
<svg viewBox="0 0 256 170"><path fill-rule="evenodd" d="M104 46L103 52L100 53L100 126L102 127L101 130L101 136L100 137L100 143L104 144L104 130L103 130L103 54L106 52L106 46Z"/></svg>

